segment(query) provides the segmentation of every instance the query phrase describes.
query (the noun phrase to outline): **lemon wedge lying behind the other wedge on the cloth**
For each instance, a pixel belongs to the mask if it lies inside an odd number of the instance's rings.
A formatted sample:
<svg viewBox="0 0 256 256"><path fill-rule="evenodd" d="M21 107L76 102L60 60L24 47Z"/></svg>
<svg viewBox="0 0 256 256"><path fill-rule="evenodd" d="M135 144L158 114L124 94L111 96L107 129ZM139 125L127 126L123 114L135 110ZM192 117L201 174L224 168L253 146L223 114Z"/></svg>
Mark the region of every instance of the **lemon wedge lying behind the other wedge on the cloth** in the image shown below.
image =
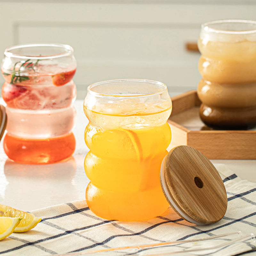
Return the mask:
<svg viewBox="0 0 256 256"><path fill-rule="evenodd" d="M41 218L35 217L35 215L32 213L23 212L3 204L0 204L0 216L22 218L19 225L14 229L13 232L28 231L31 228L36 227L37 223L41 221Z"/></svg>

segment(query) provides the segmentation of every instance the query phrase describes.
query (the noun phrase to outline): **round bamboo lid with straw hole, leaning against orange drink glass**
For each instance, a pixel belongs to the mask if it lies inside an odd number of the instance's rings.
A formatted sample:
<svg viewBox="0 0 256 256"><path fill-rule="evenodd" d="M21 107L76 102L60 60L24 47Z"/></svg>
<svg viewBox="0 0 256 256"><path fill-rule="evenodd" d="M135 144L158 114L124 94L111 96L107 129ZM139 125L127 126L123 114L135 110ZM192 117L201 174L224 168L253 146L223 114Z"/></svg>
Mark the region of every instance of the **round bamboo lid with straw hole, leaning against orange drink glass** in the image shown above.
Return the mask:
<svg viewBox="0 0 256 256"><path fill-rule="evenodd" d="M160 181L169 204L189 222L211 224L226 213L227 192L220 174L195 148L173 148L163 159Z"/></svg>

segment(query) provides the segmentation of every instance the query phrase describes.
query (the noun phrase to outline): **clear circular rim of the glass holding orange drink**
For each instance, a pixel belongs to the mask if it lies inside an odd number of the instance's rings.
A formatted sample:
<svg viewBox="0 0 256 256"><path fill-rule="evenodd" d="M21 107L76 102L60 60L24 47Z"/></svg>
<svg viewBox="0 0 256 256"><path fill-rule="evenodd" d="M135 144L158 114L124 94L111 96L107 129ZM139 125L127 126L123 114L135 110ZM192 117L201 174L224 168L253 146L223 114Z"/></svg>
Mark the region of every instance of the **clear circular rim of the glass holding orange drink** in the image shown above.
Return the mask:
<svg viewBox="0 0 256 256"><path fill-rule="evenodd" d="M113 95L113 94L103 94L103 93L99 93L99 92L94 92L91 89L97 85L100 84L108 84L108 83L113 83L113 82L142 82L142 83L151 83L151 84L158 84L163 86L163 90L161 90L160 92L155 92L155 93L149 93L149 94L141 94L141 95L122 95L122 94L118 94L118 95ZM148 97L148 96L153 96L153 95L158 95L158 94L162 94L164 92L167 91L167 86L159 81L155 81L155 80L148 80L148 79L115 79L115 80L106 80L106 81L101 81L101 82L97 82L97 83L93 83L91 85L89 85L87 87L87 92L94 95L94 96L98 96L98 97L102 97L102 98L112 98L112 99L117 99L117 98L141 98L141 97Z"/></svg>

